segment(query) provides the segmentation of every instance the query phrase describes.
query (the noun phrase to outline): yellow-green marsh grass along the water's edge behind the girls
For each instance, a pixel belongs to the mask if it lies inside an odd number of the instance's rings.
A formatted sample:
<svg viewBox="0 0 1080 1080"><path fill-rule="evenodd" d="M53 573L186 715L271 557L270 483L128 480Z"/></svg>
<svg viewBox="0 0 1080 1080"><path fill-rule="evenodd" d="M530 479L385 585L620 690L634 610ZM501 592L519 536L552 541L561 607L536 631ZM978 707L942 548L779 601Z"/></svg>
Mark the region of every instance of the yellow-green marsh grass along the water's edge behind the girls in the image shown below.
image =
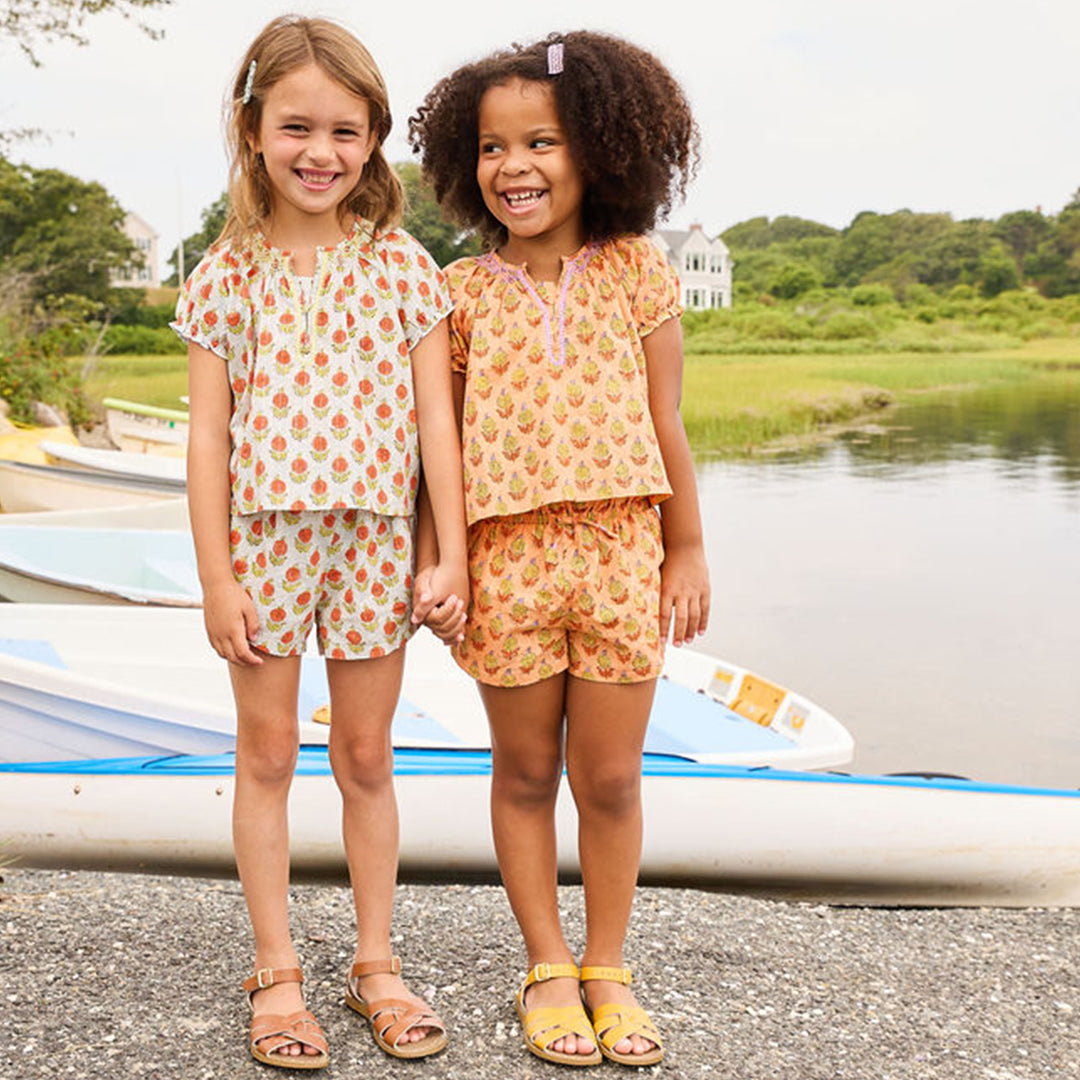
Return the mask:
<svg viewBox="0 0 1080 1080"><path fill-rule="evenodd" d="M1062 369L1080 379L1080 340L1040 338L971 353L689 353L683 416L697 451L752 454L778 440L858 422L912 394L1027 382ZM86 390L97 401L178 408L187 357L105 356Z"/></svg>

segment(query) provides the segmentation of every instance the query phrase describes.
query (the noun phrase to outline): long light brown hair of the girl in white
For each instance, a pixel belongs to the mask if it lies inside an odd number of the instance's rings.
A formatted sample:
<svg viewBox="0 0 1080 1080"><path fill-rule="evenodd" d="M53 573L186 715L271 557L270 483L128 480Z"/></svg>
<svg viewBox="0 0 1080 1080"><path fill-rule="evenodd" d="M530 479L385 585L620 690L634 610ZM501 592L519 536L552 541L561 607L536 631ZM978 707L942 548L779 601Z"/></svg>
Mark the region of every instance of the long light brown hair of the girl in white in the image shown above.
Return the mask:
<svg viewBox="0 0 1080 1080"><path fill-rule="evenodd" d="M249 75L253 62L254 76ZM341 211L374 222L377 231L401 220L404 203L401 180L382 153L382 144L393 123L390 100L372 54L337 23L281 15L268 23L248 46L226 100L229 216L218 243L249 238L270 216L270 181L251 143L262 122L262 103L270 87L309 64L316 65L350 94L367 102L372 131L376 134L375 150L356 187L341 201Z"/></svg>

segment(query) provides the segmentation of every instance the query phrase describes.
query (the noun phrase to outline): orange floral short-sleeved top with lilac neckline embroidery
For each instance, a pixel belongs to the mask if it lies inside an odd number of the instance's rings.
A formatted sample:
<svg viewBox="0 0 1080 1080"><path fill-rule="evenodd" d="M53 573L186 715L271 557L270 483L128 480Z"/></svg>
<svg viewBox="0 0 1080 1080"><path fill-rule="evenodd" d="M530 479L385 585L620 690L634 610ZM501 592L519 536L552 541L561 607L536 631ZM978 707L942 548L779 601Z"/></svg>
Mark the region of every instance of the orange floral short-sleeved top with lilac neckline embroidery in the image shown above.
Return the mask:
<svg viewBox="0 0 1080 1080"><path fill-rule="evenodd" d="M450 353L465 376L469 523L553 502L671 495L642 339L681 314L645 237L589 244L557 282L494 252L446 270Z"/></svg>

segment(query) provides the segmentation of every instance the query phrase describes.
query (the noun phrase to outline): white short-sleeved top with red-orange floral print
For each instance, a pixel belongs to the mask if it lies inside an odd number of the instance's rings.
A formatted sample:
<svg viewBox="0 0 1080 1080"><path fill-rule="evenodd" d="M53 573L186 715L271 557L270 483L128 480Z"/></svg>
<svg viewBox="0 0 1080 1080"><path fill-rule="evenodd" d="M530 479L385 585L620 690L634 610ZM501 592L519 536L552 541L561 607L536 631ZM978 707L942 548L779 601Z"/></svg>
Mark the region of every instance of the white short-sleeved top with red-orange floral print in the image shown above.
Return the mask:
<svg viewBox="0 0 1080 1080"><path fill-rule="evenodd" d="M448 313L442 272L401 229L355 222L319 248L311 278L261 238L212 248L172 325L229 365L232 512L411 514L409 353Z"/></svg>

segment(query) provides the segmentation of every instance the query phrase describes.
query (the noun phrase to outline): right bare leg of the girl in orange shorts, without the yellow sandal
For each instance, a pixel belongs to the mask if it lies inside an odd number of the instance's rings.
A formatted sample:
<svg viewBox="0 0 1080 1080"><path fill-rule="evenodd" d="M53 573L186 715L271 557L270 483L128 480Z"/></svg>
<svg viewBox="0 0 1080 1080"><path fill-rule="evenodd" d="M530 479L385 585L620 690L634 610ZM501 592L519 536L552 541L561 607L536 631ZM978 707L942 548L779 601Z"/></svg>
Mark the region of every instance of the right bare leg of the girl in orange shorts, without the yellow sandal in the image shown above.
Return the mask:
<svg viewBox="0 0 1080 1080"><path fill-rule="evenodd" d="M582 967L623 966L622 948L642 858L642 747L656 680L616 685L570 676L566 687L566 771L578 808L578 853L585 892ZM636 1004L629 986L582 984L590 1008ZM635 1035L621 1054L652 1043Z"/></svg>

